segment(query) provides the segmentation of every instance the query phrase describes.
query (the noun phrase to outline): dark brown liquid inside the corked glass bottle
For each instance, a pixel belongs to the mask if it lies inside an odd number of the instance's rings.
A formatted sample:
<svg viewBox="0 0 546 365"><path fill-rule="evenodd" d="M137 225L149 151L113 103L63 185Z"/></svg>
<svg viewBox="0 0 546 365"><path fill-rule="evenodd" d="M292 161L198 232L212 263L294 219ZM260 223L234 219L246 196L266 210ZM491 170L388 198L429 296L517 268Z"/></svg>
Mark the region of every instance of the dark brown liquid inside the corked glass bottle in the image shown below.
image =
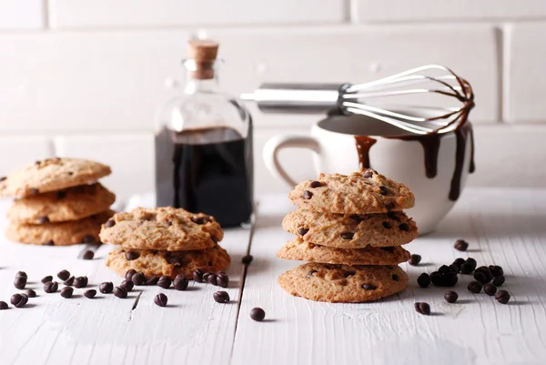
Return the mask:
<svg viewBox="0 0 546 365"><path fill-rule="evenodd" d="M156 137L158 207L203 212L222 227L238 226L252 213L252 177L251 130L243 138L227 127L165 128Z"/></svg>

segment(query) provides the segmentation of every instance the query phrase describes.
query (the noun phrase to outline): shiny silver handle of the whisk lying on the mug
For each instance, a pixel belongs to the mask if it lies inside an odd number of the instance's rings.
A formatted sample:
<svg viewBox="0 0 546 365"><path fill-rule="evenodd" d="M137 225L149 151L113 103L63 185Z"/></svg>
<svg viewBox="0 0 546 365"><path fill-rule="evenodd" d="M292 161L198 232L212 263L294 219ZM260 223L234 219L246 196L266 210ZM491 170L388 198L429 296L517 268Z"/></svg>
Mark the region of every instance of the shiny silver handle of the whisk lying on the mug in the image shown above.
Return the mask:
<svg viewBox="0 0 546 365"><path fill-rule="evenodd" d="M241 98L256 101L265 113L324 114L338 107L345 87L347 84L266 83Z"/></svg>

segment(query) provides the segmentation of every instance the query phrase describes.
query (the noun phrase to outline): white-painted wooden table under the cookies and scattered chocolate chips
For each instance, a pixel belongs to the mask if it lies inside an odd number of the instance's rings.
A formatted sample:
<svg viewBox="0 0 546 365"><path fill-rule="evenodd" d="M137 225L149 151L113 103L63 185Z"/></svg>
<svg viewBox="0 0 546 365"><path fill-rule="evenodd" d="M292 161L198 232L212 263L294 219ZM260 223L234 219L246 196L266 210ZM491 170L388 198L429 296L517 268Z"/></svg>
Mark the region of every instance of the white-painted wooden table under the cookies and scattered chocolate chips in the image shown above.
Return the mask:
<svg viewBox="0 0 546 365"><path fill-rule="evenodd" d="M8 204L0 202L0 216ZM82 289L73 299L45 294L39 280L61 269L86 275L95 289L102 281L119 283L104 265L111 247L97 248L96 259L86 261L77 257L87 247L0 238L0 300L20 291L13 286L18 270L38 292L24 309L0 311L0 364L546 363L546 190L467 190L435 233L408 246L423 258L420 267L401 265L410 288L367 304L312 302L278 287L278 275L299 264L275 256L290 238L280 228L290 209L286 197L264 197L252 239L250 229L227 231L221 244L233 258L228 304L212 299L218 287L193 282L187 291L136 287L127 299L100 293L86 299ZM452 248L457 238L470 242L469 252ZM240 259L248 249L254 261L245 273ZM458 257L501 265L509 304L471 294L469 276L460 276L456 304L443 299L447 289L416 284L421 272ZM153 303L160 291L167 293L167 308ZM415 301L429 302L433 315L415 312ZM267 320L250 319L254 307L265 309Z"/></svg>

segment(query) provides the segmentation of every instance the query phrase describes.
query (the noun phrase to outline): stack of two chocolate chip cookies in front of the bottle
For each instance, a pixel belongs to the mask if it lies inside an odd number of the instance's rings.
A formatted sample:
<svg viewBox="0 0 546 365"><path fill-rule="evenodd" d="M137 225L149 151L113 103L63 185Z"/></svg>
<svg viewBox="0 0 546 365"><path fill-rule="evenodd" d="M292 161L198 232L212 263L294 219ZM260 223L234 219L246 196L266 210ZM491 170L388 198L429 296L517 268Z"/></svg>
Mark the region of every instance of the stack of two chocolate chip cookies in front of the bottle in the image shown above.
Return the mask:
<svg viewBox="0 0 546 365"><path fill-rule="evenodd" d="M217 242L224 232L217 221L203 213L182 208L136 208L117 213L100 231L105 243L119 245L106 266L125 276L134 269L147 279L183 275L191 279L196 269L217 272L231 259Z"/></svg>

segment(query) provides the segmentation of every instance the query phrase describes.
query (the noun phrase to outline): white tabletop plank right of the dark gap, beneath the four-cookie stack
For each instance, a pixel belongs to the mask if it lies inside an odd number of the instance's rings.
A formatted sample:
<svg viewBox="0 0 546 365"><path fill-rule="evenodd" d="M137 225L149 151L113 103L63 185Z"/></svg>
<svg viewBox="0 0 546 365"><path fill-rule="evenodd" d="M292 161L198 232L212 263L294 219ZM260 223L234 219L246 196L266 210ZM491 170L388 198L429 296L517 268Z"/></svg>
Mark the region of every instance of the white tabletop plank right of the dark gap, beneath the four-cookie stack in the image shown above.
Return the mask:
<svg viewBox="0 0 546 365"><path fill-rule="evenodd" d="M467 190L435 233L408 245L423 258L420 267L401 265L410 288L366 304L313 302L280 289L278 276L299 264L275 257L291 238L280 222L292 209L284 197L260 201L232 364L544 363L546 190ZM470 251L452 248L457 238L467 239ZM458 257L501 265L511 302L471 294L469 276L460 276L456 304L443 299L447 289L417 285L421 272ZM415 301L429 302L434 315L415 312ZM268 322L250 319L253 307L265 309Z"/></svg>

